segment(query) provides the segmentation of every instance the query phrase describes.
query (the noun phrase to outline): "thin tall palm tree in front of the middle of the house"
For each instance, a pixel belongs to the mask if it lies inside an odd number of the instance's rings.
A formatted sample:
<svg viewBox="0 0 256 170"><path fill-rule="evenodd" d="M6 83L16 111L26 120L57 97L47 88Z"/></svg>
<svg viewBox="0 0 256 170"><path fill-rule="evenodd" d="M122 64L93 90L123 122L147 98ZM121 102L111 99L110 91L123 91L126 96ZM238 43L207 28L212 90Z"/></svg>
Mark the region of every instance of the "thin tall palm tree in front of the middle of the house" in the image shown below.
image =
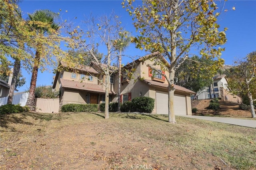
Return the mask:
<svg viewBox="0 0 256 170"><path fill-rule="evenodd" d="M122 52L129 46L131 42L131 37L129 32L124 31L119 33L119 39L116 40L115 46L116 50L119 51L118 55L118 109L120 112L120 91L121 91L121 62L122 62Z"/></svg>

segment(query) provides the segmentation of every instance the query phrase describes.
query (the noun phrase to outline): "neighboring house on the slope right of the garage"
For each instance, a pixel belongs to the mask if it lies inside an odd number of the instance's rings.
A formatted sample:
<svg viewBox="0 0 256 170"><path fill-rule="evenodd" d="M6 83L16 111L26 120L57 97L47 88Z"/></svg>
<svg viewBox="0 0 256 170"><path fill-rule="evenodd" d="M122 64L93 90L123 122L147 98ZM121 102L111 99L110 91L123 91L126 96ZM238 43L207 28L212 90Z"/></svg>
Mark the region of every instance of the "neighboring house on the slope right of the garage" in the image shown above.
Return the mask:
<svg viewBox="0 0 256 170"><path fill-rule="evenodd" d="M220 98L223 101L232 101L242 103L242 99L236 95L232 95L228 89L228 81L226 75L216 75L213 78L213 83L204 90L199 91L196 96L197 99L213 99Z"/></svg>

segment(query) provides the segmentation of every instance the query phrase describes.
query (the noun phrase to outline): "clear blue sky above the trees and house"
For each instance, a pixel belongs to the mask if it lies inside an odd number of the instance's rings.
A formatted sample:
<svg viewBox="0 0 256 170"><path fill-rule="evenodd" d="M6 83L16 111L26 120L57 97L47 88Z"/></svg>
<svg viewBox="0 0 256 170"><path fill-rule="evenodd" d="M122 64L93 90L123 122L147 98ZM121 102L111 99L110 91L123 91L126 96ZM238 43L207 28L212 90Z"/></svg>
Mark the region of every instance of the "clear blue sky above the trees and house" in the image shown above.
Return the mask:
<svg viewBox="0 0 256 170"><path fill-rule="evenodd" d="M128 12L121 6L120 0L23 0L19 4L23 17L27 13L33 13L39 9L49 9L53 12L60 12L63 20L71 20L77 17L76 24L81 24L84 16L90 14L94 16L108 15L112 10L118 15L125 30L132 32L136 36L135 29L132 25L132 18ZM138 1L141 3L141 1ZM219 3L219 2L218 2ZM224 0L220 1L224 3ZM225 64L232 65L236 58L245 57L248 53L256 50L256 0L228 0L225 2L223 12L218 18L218 24L221 28L227 27L227 43L224 45L226 50L222 53ZM232 10L235 7L236 10ZM65 11L68 12L65 12ZM131 45L125 52L126 55L143 56L146 53L136 49ZM127 63L127 61L124 61ZM31 73L22 69L22 74L26 77L26 84L18 88L19 92L26 91L30 86ZM51 85L54 74L51 70L38 74L38 85Z"/></svg>

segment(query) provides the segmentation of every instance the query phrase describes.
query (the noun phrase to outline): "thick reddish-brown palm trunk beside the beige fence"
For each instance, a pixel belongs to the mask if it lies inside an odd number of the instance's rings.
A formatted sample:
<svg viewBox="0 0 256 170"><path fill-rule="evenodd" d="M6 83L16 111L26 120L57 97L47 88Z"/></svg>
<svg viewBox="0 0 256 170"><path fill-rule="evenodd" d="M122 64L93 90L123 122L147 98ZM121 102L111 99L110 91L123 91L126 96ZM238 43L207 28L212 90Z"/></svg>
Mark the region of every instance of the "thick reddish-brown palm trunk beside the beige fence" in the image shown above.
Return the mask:
<svg viewBox="0 0 256 170"><path fill-rule="evenodd" d="M26 105L30 108L30 111L36 111L35 91L36 91L36 80L37 80L39 62L40 62L40 52L39 52L39 50L37 50L36 57L34 59L34 67L32 70L32 77L31 77L31 81L30 81L28 100L26 103Z"/></svg>

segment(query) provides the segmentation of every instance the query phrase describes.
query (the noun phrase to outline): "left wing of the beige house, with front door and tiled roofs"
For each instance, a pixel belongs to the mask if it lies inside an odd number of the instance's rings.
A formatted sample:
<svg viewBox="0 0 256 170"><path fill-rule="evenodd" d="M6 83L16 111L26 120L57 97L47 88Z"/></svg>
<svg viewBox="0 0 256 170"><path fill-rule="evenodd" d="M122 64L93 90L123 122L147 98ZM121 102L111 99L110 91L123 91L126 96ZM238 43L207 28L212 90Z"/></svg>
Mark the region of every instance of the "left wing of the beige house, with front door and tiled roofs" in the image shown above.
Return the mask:
<svg viewBox="0 0 256 170"><path fill-rule="evenodd" d="M61 64L64 69L56 73L52 86L53 89L60 90L60 108L70 103L100 104L105 102L106 76L99 67L93 63L90 66L78 65L75 68ZM106 65L102 64L102 67ZM118 88L118 79L114 77L113 70L110 74L109 95L112 101L116 95L114 89Z"/></svg>

